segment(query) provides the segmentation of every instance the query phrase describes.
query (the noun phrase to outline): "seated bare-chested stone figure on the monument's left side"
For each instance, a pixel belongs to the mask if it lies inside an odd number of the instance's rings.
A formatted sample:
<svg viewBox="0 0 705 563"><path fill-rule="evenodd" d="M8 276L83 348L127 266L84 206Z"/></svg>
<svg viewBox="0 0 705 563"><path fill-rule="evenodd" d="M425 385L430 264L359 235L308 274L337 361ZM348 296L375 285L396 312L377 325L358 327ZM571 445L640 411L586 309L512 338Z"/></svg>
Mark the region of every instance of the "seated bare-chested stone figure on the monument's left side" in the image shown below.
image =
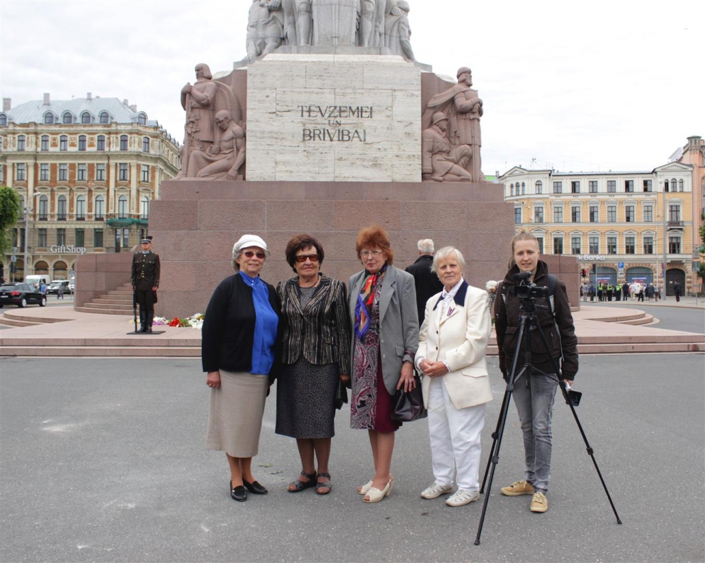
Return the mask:
<svg viewBox="0 0 705 563"><path fill-rule="evenodd" d="M233 122L226 109L216 113L215 123L221 130L220 144L191 154L188 177L241 180L243 177L238 176L238 168L245 163L245 131Z"/></svg>

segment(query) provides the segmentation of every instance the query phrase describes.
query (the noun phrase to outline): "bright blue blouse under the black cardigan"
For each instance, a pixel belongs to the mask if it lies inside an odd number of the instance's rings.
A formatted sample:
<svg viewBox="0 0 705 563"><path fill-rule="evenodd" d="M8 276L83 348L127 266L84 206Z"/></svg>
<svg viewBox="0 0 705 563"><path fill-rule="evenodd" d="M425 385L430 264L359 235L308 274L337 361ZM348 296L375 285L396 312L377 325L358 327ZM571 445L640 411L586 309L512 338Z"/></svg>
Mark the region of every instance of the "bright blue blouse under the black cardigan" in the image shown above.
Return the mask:
<svg viewBox="0 0 705 563"><path fill-rule="evenodd" d="M242 270L239 273L245 283L252 287L252 302L255 304L255 340L250 373L266 375L274 364L274 342L279 317L269 304L269 290L262 278L250 278Z"/></svg>

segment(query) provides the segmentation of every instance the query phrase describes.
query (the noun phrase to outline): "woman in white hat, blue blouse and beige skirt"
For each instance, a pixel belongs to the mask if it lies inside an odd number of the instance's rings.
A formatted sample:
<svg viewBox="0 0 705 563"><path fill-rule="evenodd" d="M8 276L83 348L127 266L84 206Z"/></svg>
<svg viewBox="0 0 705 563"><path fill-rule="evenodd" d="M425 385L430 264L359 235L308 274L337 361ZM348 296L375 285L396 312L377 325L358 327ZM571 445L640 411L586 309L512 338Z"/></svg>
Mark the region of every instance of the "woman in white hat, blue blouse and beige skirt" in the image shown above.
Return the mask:
<svg viewBox="0 0 705 563"><path fill-rule="evenodd" d="M276 289L259 277L269 255L257 235L243 235L233 246L235 275L216 287L202 328L201 359L211 388L206 448L225 451L230 494L247 500L247 491L266 495L252 475L259 448L264 400L274 378L275 347L281 342L281 305Z"/></svg>

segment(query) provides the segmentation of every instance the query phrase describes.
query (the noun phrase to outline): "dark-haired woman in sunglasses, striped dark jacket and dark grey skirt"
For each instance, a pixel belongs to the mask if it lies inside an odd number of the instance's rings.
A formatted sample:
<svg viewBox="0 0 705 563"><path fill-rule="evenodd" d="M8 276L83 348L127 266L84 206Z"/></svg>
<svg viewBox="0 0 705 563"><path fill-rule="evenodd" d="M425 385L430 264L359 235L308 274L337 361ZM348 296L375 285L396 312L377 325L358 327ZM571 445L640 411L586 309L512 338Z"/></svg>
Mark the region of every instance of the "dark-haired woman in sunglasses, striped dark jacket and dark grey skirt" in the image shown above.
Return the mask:
<svg viewBox="0 0 705 563"><path fill-rule="evenodd" d="M350 381L348 290L320 272L323 258L320 242L296 235L286 245L286 261L297 276L276 288L285 321L276 433L296 438L302 466L290 493L310 487L319 495L331 492L335 394L338 381Z"/></svg>

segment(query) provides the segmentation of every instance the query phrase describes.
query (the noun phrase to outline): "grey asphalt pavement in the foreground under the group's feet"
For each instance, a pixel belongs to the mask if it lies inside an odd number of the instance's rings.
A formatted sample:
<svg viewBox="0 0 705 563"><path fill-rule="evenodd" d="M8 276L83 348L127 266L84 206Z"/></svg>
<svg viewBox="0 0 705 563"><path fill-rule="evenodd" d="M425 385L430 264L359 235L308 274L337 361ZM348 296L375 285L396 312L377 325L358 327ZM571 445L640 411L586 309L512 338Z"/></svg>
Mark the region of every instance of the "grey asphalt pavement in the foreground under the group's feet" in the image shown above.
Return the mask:
<svg viewBox="0 0 705 563"><path fill-rule="evenodd" d="M504 392L490 364L483 471ZM563 402L548 512L499 494L522 477L512 407L475 546L479 502L419 497L433 481L425 421L400 429L396 485L379 504L355 492L372 460L347 407L336 417L333 492L291 494L300 465L294 440L274 433L273 388L254 463L270 492L238 503L225 454L204 450L200 361L1 359L0 561L703 561L703 366L701 354L581 358L577 412L621 526Z"/></svg>

